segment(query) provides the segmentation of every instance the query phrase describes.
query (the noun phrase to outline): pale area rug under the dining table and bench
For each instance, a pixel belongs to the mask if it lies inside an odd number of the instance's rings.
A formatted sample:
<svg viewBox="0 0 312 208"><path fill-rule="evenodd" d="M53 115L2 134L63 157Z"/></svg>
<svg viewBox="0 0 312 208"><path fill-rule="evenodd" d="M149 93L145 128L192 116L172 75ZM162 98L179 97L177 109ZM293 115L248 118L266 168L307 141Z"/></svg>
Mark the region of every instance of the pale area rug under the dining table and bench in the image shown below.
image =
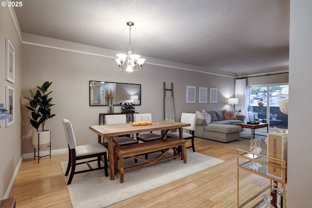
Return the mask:
<svg viewBox="0 0 312 208"><path fill-rule="evenodd" d="M155 153L149 154L149 158ZM67 186L73 208L104 208L130 197L156 189L180 178L192 175L224 162L211 156L187 151L187 164L180 158L171 159L154 165L125 171L124 183L119 183L119 175L111 181L105 177L104 169L75 174L72 183ZM96 162L93 162L95 166ZM124 160L127 164L134 164L134 159ZM91 163L90 163L91 164ZM63 172L67 162L61 162ZM76 170L87 169L85 164L76 167ZM67 183L69 176L65 176Z"/></svg>

